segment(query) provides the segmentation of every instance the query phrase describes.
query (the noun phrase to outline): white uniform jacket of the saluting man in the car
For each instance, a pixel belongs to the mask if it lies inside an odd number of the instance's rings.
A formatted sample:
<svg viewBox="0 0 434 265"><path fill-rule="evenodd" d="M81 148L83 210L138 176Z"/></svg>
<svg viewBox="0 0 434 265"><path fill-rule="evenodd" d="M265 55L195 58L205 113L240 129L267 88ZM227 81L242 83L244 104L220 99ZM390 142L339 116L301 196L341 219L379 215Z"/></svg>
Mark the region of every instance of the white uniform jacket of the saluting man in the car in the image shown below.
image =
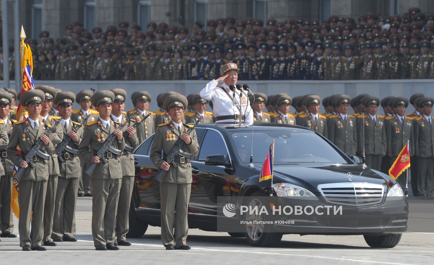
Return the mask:
<svg viewBox="0 0 434 265"><path fill-rule="evenodd" d="M201 97L205 100L210 100L213 102L213 112L215 117L226 116L226 115L236 115L240 114L238 107L234 107L232 104L233 92L230 91L229 86L223 83L221 86L217 86L218 83L214 79L209 82L205 88L201 91ZM226 91L226 92L225 92ZM229 95L228 95L229 94ZM243 96L240 98L240 91L235 90L235 105L243 105L241 108L241 115L245 115L245 122L248 125L253 124L253 110L249 104L249 98L245 91L243 91ZM235 122L234 119L221 120L216 122Z"/></svg>

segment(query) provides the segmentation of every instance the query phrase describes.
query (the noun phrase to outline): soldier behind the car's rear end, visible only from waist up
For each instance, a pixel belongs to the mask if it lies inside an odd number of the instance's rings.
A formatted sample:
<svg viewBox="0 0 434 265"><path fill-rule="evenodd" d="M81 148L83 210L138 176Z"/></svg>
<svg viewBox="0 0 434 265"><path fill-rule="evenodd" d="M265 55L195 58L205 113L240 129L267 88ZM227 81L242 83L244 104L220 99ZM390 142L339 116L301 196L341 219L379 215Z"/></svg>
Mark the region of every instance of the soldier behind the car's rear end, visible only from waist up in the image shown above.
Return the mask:
<svg viewBox="0 0 434 265"><path fill-rule="evenodd" d="M137 121L141 121L143 115L151 113L146 121L144 121L137 130L137 137L139 144L145 141L155 131L155 113L149 111L149 103L151 102L151 94L148 91L139 91L134 94L133 102L135 102L135 109L128 111L128 115L134 114Z"/></svg>

